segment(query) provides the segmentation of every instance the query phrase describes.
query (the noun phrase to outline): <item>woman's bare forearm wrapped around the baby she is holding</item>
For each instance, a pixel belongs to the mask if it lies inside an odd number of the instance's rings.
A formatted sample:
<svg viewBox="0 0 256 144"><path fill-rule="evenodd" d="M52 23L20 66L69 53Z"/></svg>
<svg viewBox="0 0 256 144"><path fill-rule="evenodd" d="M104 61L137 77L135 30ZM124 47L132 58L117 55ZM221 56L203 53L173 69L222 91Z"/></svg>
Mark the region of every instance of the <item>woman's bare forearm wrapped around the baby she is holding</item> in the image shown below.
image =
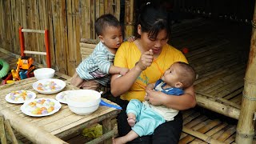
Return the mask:
<svg viewBox="0 0 256 144"><path fill-rule="evenodd" d="M184 94L175 96L164 94L159 91L146 90L149 102L154 106L163 105L175 110L187 110L196 106L194 87L184 90Z"/></svg>

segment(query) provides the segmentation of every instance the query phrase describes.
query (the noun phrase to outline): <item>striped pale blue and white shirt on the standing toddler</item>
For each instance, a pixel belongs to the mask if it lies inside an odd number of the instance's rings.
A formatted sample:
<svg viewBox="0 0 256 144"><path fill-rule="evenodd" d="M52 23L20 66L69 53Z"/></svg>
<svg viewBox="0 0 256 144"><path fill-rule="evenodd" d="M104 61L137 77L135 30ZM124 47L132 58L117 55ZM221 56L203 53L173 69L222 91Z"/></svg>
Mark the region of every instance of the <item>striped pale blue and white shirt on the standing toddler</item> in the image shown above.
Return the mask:
<svg viewBox="0 0 256 144"><path fill-rule="evenodd" d="M109 70L113 65L114 56L102 42L98 42L93 53L78 65L76 71L82 79L94 79L107 86L110 82Z"/></svg>

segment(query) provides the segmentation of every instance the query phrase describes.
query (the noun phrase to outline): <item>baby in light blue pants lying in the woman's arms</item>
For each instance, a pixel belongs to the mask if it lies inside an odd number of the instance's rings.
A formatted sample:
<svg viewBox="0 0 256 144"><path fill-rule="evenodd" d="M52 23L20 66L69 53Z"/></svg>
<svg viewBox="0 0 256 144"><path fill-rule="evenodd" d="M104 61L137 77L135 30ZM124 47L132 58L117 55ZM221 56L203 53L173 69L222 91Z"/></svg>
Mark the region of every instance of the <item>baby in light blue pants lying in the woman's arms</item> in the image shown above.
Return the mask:
<svg viewBox="0 0 256 144"><path fill-rule="evenodd" d="M193 85L195 80L194 69L185 62L174 62L165 74L155 83L149 84L146 89L158 90L162 93L173 95L184 94L183 90ZM131 126L130 132L123 137L113 138L114 144L126 143L143 135L150 135L154 130L166 121L174 120L178 110L166 106L153 106L148 102L138 99L130 100L127 109L127 121Z"/></svg>

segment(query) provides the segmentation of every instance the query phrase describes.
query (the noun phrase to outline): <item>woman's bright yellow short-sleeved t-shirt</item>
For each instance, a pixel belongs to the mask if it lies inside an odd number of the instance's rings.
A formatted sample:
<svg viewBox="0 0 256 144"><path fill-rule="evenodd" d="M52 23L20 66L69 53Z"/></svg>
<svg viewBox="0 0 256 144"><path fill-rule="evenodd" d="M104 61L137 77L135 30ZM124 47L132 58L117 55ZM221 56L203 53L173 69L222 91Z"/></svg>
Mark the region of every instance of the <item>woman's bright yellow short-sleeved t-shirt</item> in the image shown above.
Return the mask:
<svg viewBox="0 0 256 144"><path fill-rule="evenodd" d="M114 66L132 69L140 57L141 52L134 42L123 42L115 54ZM144 101L147 84L154 83L160 79L162 74L164 74L174 62L187 63L187 60L181 51L166 44L162 47L162 52L159 54L158 58L154 59L154 62L150 67L142 71L140 76L134 82L134 85L131 86L128 92L122 94L121 98L128 101L130 101L130 99Z"/></svg>

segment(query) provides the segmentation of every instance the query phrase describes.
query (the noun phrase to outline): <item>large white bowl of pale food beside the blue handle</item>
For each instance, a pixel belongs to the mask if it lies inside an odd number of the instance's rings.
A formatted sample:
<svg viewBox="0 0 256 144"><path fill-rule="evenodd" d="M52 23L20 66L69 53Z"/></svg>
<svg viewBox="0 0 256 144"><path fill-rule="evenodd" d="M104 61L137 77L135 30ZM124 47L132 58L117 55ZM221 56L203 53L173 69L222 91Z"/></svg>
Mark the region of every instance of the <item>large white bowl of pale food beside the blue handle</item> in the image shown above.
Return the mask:
<svg viewBox="0 0 256 144"><path fill-rule="evenodd" d="M101 94L95 90L69 90L66 103L78 115L92 114L98 110Z"/></svg>

